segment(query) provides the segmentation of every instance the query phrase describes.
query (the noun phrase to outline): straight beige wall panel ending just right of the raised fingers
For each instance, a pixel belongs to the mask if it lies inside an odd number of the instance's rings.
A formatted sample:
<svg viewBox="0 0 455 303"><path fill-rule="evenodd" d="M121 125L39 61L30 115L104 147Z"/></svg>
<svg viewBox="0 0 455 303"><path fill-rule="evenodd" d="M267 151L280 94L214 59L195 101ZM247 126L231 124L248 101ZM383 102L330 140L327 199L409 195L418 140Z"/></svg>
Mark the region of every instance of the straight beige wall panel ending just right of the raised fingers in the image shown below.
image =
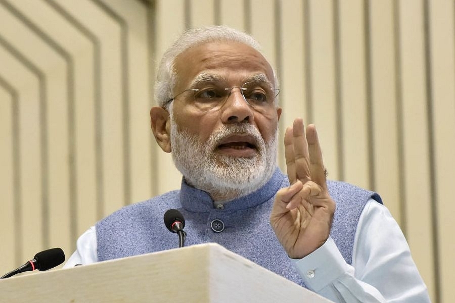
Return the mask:
<svg viewBox="0 0 455 303"><path fill-rule="evenodd" d="M331 179L339 178L337 160L337 113L335 99L335 49L332 1L309 0L309 52L311 96L308 113L315 123Z"/></svg>

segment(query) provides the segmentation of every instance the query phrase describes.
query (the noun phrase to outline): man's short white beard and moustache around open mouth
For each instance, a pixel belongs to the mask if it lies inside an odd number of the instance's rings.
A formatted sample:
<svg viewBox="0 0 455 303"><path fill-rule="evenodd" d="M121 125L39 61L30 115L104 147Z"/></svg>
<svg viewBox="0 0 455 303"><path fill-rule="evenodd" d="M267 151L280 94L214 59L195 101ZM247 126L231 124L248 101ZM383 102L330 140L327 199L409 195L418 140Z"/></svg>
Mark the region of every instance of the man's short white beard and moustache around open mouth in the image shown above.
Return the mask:
<svg viewBox="0 0 455 303"><path fill-rule="evenodd" d="M264 141L250 123L225 125L214 131L208 141L201 142L187 130L179 130L169 109L171 148L175 167L188 184L208 192L212 198L229 200L245 196L270 180L277 166L278 129ZM234 134L249 134L256 140L258 152L251 158L220 155L219 142Z"/></svg>

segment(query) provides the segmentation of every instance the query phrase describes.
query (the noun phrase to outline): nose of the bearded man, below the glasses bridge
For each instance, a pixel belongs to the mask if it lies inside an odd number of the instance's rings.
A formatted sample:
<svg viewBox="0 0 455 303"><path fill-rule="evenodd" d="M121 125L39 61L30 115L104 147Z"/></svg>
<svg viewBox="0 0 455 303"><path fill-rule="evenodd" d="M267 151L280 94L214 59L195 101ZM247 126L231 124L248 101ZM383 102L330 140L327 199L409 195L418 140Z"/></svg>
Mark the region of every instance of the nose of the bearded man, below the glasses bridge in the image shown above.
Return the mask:
<svg viewBox="0 0 455 303"><path fill-rule="evenodd" d="M241 89L234 87L226 96L226 101L221 108L221 120L223 123L250 122L254 120L253 110L246 102Z"/></svg>

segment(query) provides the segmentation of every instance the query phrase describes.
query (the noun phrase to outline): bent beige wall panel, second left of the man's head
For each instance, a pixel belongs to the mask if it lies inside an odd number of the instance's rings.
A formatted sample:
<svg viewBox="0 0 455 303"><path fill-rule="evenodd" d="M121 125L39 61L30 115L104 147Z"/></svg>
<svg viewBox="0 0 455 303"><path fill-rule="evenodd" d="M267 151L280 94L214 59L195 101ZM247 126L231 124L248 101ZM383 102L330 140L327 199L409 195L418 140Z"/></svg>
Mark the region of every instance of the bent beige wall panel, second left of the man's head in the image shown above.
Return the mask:
<svg viewBox="0 0 455 303"><path fill-rule="evenodd" d="M101 128L102 200L100 217L106 216L124 205L123 175L123 125L121 81L121 28L94 2L66 1L61 3L66 11L92 31L101 43Z"/></svg>

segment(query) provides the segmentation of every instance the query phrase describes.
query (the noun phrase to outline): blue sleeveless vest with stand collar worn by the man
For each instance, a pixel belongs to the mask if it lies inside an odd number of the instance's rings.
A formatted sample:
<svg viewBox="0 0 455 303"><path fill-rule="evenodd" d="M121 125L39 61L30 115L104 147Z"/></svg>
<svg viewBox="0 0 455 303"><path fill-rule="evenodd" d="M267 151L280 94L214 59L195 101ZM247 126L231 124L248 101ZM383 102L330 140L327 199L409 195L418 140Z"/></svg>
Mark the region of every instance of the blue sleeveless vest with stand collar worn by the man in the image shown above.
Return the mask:
<svg viewBox="0 0 455 303"><path fill-rule="evenodd" d="M98 260L110 260L178 246L178 237L165 227L163 215L168 209L179 210L186 220L185 245L216 242L260 266L304 286L298 271L287 256L269 223L276 192L289 186L287 176L277 169L259 190L213 207L213 200L202 191L182 181L174 190L133 204L96 224ZM331 237L348 264L352 263L355 230L360 214L370 198L382 203L378 194L353 185L328 181L336 211ZM216 233L212 220L224 223Z"/></svg>

